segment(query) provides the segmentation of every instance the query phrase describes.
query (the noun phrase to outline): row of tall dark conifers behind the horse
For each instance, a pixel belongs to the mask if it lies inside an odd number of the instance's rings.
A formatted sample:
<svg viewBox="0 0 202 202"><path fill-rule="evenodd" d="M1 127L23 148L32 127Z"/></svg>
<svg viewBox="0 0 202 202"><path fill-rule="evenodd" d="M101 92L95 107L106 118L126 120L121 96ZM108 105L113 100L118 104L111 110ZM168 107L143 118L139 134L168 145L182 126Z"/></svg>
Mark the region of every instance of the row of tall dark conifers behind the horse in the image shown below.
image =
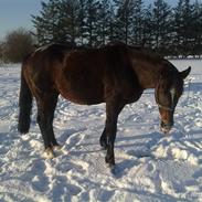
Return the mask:
<svg viewBox="0 0 202 202"><path fill-rule="evenodd" d="M39 45L52 42L97 47L124 42L162 55L202 54L202 3L164 0L49 0L32 15Z"/></svg>

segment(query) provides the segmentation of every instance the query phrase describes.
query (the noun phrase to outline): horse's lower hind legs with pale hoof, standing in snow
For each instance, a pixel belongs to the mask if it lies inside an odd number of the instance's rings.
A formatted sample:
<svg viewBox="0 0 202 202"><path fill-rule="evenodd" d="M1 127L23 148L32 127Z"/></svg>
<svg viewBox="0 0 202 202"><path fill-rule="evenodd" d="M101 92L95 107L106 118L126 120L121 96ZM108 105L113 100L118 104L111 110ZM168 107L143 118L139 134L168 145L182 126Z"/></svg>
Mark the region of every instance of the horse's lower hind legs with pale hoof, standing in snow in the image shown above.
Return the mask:
<svg viewBox="0 0 202 202"><path fill-rule="evenodd" d="M56 107L59 94L52 93L36 97L38 104L38 124L43 137L45 155L47 158L53 158L53 148L59 147L53 131L53 118Z"/></svg>

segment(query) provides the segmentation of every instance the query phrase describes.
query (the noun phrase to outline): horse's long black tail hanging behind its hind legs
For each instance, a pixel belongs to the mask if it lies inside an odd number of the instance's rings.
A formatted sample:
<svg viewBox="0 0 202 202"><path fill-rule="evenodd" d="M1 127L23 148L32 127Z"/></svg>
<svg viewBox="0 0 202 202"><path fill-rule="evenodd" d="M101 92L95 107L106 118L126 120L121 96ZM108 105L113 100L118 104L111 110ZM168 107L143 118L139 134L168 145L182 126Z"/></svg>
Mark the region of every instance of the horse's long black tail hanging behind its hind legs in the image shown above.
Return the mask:
<svg viewBox="0 0 202 202"><path fill-rule="evenodd" d="M28 57L26 57L28 59ZM21 68L21 85L20 85L20 97L19 97L19 125L18 130L21 134L29 132L30 129L30 116L31 116L31 109L32 109L32 93L28 86L28 83L24 78L23 70L26 65L26 59L22 62L22 68Z"/></svg>

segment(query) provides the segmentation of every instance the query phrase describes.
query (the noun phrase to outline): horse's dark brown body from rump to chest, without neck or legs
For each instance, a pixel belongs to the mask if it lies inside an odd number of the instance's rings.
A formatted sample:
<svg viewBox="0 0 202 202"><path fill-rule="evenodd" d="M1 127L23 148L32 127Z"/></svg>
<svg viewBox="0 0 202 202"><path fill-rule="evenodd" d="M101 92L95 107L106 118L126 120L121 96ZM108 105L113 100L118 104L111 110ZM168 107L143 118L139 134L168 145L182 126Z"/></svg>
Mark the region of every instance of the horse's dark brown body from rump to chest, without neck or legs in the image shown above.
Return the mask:
<svg viewBox="0 0 202 202"><path fill-rule="evenodd" d="M38 49L25 63L32 92L56 92L77 104L104 103L117 94L135 100L141 94L127 46L121 44L72 51L50 45Z"/></svg>

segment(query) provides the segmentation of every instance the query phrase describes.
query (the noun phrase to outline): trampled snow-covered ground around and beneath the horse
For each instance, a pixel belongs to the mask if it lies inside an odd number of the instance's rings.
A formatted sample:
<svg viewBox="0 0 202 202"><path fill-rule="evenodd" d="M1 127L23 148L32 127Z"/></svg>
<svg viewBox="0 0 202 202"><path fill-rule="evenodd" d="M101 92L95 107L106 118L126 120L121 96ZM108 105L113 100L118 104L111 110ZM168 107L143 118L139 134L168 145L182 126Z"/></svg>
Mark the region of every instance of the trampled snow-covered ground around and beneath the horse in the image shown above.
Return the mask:
<svg viewBox="0 0 202 202"><path fill-rule="evenodd" d="M125 107L118 121L116 174L104 162L98 139L105 105L78 106L60 98L54 130L63 149L42 158L35 121L17 131L20 65L0 67L0 202L172 202L202 201L202 61L192 66L169 136L159 131L153 91Z"/></svg>

